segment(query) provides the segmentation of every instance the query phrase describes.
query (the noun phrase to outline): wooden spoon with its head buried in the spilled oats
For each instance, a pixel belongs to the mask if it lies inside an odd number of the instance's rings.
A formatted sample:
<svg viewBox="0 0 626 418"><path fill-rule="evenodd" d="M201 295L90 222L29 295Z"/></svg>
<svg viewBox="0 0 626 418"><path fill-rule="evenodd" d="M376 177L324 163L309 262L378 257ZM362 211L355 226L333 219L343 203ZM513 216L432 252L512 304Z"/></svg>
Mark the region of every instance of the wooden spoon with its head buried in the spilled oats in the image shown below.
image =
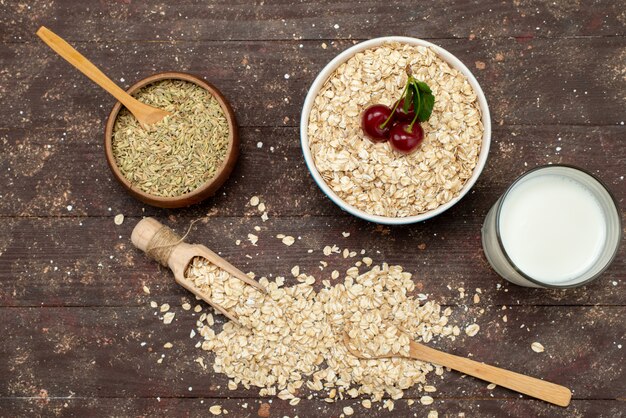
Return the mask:
<svg viewBox="0 0 626 418"><path fill-rule="evenodd" d="M354 347L347 333L343 335L343 343L350 354L364 360L404 357L397 354L368 357ZM435 350L434 348L416 343L415 341L410 341L409 344L409 355L405 358L439 364L440 366L448 367L452 370L477 377L490 383L495 383L498 386L559 406L568 406L572 399L572 392L565 386L511 372L499 367L489 366L488 364L479 363L464 357L444 353L443 351Z"/></svg>

